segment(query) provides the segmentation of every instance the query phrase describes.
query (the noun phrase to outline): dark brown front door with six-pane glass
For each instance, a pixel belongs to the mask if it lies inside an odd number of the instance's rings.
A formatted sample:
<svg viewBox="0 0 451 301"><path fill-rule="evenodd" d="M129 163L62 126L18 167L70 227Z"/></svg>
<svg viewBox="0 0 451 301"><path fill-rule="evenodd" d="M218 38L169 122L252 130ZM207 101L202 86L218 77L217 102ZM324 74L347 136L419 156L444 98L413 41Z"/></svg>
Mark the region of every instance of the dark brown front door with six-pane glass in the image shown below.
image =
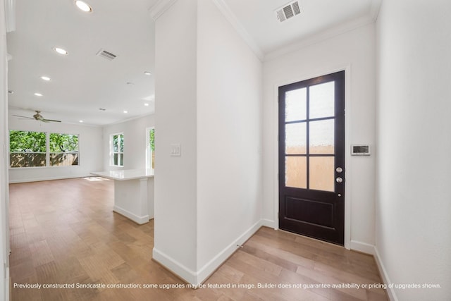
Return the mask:
<svg viewBox="0 0 451 301"><path fill-rule="evenodd" d="M279 87L279 228L345 240L345 71Z"/></svg>

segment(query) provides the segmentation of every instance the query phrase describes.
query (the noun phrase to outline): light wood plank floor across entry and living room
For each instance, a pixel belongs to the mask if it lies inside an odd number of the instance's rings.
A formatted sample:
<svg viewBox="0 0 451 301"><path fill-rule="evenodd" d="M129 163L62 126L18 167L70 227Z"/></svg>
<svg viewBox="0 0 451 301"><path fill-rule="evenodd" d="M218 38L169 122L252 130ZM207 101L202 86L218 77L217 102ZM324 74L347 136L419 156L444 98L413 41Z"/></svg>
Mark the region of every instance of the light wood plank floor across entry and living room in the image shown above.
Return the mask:
<svg viewBox="0 0 451 301"><path fill-rule="evenodd" d="M387 300L382 288L304 288L381 278L369 255L270 228L205 282L237 288L144 288L185 283L152 261L153 221L138 226L112 212L113 181L11 184L10 195L11 300ZM17 287L102 283L141 288ZM258 283L276 288L249 288Z"/></svg>

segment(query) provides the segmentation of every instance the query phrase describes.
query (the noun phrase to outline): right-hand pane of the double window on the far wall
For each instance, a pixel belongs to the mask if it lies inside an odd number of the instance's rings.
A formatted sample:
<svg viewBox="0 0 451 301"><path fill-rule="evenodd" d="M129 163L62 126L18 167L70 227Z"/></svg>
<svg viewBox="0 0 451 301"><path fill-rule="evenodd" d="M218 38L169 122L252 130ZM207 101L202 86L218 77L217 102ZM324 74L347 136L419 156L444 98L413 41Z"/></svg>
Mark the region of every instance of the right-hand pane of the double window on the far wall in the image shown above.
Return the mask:
<svg viewBox="0 0 451 301"><path fill-rule="evenodd" d="M78 165L78 135L51 133L50 166Z"/></svg>

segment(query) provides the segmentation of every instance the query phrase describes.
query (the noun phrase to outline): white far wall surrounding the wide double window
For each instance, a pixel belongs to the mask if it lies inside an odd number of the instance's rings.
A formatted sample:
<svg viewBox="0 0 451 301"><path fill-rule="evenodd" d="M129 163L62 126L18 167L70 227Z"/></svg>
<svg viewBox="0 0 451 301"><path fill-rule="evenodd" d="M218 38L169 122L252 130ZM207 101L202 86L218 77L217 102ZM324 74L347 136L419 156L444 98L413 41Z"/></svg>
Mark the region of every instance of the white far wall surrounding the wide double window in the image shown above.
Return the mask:
<svg viewBox="0 0 451 301"><path fill-rule="evenodd" d="M78 134L79 165L58 167L9 168L10 183L54 180L89 176L102 168L101 128L66 123L42 123L9 118L8 130L31 130L49 133Z"/></svg>

